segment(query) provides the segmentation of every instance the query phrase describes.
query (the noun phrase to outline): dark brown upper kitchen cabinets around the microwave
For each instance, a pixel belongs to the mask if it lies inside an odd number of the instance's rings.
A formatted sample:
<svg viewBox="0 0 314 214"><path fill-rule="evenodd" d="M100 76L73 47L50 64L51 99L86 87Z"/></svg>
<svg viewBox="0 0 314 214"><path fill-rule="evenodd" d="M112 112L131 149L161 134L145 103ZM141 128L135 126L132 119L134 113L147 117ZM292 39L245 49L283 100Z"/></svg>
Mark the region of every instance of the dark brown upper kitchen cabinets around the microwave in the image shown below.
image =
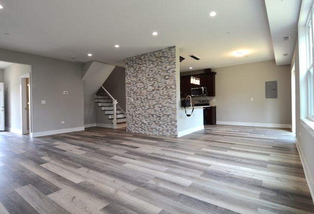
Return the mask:
<svg viewBox="0 0 314 214"><path fill-rule="evenodd" d="M191 88L194 87L207 87L207 96L214 97L215 94L215 75L216 72L207 72L204 74L196 75L197 78L200 78L200 85L195 85L190 83L191 76L182 76L180 78L180 96L186 97L191 95Z"/></svg>

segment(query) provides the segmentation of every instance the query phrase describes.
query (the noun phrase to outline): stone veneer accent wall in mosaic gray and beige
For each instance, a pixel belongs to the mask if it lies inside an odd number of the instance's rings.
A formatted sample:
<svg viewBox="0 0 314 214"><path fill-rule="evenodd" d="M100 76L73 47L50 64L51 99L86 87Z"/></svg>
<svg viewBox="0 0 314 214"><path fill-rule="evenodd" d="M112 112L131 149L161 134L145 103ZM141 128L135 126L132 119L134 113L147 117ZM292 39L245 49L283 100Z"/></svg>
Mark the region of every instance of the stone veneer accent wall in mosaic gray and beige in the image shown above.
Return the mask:
<svg viewBox="0 0 314 214"><path fill-rule="evenodd" d="M176 47L127 58L127 132L177 137L176 87Z"/></svg>

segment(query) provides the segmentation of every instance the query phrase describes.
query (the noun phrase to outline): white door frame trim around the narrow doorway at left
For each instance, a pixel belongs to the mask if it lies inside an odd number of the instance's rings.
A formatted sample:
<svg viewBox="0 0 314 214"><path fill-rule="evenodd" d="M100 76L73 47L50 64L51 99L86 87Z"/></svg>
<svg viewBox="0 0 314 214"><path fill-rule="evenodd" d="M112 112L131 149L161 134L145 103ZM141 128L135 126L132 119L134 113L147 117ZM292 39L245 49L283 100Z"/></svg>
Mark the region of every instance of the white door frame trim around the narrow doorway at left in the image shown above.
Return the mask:
<svg viewBox="0 0 314 214"><path fill-rule="evenodd" d="M31 126L31 78L30 73L26 73L24 75L20 76L21 84L20 84L20 91L21 91L21 128L22 128L22 134L28 134L27 133L27 106L26 104L26 78L28 78L28 101L29 101L29 108L28 108L28 114L29 114L29 135L32 134L32 126ZM27 105L27 104L26 104Z"/></svg>

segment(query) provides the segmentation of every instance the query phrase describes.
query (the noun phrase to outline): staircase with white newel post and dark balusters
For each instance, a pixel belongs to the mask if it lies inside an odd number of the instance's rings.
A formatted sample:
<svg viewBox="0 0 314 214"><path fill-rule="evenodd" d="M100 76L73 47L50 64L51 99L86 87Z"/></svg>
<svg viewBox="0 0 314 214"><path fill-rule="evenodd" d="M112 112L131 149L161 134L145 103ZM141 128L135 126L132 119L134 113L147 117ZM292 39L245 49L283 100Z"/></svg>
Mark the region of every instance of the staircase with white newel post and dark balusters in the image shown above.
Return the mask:
<svg viewBox="0 0 314 214"><path fill-rule="evenodd" d="M98 103L98 107L112 120L113 129L127 126L126 112L117 105L117 100L103 86L95 94L95 103Z"/></svg>

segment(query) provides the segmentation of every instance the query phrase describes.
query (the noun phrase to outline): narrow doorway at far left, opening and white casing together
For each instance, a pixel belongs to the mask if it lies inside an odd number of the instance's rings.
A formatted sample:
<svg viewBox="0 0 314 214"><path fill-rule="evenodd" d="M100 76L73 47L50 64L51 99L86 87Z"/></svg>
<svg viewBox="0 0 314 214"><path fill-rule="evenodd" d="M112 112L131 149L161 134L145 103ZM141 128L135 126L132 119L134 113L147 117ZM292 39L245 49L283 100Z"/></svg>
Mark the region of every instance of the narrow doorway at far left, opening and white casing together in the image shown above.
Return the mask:
<svg viewBox="0 0 314 214"><path fill-rule="evenodd" d="M30 73L21 76L22 134L31 133Z"/></svg>

